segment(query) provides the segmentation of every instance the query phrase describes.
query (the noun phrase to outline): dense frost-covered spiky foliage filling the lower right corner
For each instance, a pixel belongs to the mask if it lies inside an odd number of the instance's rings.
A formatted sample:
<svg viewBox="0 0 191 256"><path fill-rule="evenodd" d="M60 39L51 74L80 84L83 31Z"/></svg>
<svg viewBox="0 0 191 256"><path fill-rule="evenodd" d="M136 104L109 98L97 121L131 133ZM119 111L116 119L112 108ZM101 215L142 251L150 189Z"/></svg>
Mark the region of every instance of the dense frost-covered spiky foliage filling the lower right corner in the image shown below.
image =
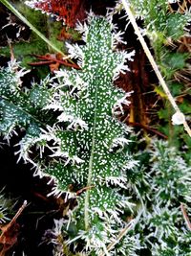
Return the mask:
<svg viewBox="0 0 191 256"><path fill-rule="evenodd" d="M128 172L127 183L136 207L124 215L132 226L110 255L190 255L191 232L180 209L183 204L190 218L190 167L176 148L158 139L136 158L139 166Z"/></svg>

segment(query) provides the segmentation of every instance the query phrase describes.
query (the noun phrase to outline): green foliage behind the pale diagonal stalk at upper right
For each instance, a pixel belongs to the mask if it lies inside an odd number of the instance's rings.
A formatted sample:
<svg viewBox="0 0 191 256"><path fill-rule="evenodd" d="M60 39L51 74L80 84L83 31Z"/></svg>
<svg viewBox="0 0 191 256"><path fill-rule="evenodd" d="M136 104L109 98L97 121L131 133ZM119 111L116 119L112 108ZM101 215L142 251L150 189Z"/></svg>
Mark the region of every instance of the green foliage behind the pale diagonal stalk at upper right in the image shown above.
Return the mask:
<svg viewBox="0 0 191 256"><path fill-rule="evenodd" d="M135 11L135 14L143 20L143 29L145 35L148 35L150 43L155 52L155 59L159 65L164 80L166 81L172 95L180 102L180 110L186 115L190 115L190 78L187 76L190 69L190 54L189 51L180 50L180 38L188 35L188 27L191 13L186 10L186 1L177 3L180 10L173 10L172 2L166 0L152 1L134 1L130 3ZM184 5L183 5L184 4ZM182 5L182 6L181 6ZM178 41L179 40L179 41ZM183 73L183 71L185 72ZM185 82L186 81L186 82ZM155 91L163 100L163 106L160 105L159 110L159 126L158 129L168 136L171 145L181 149L186 144L190 154L189 145L191 139L189 135L184 134L184 130L178 126L172 126L171 116L173 109L168 104L168 99L162 94L159 88ZM189 119L188 119L189 121ZM186 157L189 158L189 157ZM189 160L188 160L189 161Z"/></svg>

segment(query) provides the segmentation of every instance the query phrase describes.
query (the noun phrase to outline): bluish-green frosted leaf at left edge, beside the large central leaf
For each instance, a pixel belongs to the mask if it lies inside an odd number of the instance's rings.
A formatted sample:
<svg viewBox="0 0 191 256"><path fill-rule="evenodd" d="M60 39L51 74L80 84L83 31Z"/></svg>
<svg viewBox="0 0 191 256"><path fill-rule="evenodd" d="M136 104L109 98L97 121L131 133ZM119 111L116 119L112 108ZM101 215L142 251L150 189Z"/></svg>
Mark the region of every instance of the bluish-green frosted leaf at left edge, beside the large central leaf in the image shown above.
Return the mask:
<svg viewBox="0 0 191 256"><path fill-rule="evenodd" d="M47 88L49 78L39 85L33 83L30 91L23 89L21 78L28 72L18 69L18 63L13 60L0 70L0 131L9 139L16 128L25 128L26 134L20 142L20 157L27 160L28 150L41 133L40 128L45 128L45 122L53 117L42 111L53 95L53 89Z"/></svg>

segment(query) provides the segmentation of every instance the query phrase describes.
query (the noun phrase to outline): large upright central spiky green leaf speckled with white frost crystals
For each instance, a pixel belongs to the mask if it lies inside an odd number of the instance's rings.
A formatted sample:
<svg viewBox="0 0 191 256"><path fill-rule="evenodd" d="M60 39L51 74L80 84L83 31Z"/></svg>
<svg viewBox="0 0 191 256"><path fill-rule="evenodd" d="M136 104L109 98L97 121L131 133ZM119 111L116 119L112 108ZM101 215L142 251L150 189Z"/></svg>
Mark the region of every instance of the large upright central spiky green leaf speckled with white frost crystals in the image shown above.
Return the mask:
<svg viewBox="0 0 191 256"><path fill-rule="evenodd" d="M132 161L123 152L129 129L115 116L117 108L121 111L122 104L129 104L129 94L112 81L128 70L124 62L132 60L134 53L113 52L114 35L107 19L91 15L88 20L89 25L78 26L86 35L86 45L69 46L69 54L80 60L82 69L55 74L56 97L46 108L61 110L58 123L64 122L67 130L51 131L57 138L54 155L62 160L53 161L43 172L56 178L57 193L70 194L70 184L87 187L73 214L72 223L78 230L74 240L80 237L87 250L98 252L106 250L112 234L123 226L121 211L133 207L130 198L121 194ZM138 164L132 163L131 168Z"/></svg>

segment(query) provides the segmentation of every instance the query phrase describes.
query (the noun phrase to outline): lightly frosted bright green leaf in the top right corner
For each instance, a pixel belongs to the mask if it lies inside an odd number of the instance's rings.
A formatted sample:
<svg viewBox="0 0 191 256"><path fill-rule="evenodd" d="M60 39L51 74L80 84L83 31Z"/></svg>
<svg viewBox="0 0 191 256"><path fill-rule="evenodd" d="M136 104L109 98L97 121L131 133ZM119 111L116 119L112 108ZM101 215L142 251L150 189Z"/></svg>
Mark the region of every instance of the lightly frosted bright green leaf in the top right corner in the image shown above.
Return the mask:
<svg viewBox="0 0 191 256"><path fill-rule="evenodd" d="M148 35L153 36L153 43L158 36L159 41L164 43L168 37L177 40L184 35L184 28L190 20L189 13L170 12L170 3L166 0L131 0L130 3L136 15L143 19Z"/></svg>

